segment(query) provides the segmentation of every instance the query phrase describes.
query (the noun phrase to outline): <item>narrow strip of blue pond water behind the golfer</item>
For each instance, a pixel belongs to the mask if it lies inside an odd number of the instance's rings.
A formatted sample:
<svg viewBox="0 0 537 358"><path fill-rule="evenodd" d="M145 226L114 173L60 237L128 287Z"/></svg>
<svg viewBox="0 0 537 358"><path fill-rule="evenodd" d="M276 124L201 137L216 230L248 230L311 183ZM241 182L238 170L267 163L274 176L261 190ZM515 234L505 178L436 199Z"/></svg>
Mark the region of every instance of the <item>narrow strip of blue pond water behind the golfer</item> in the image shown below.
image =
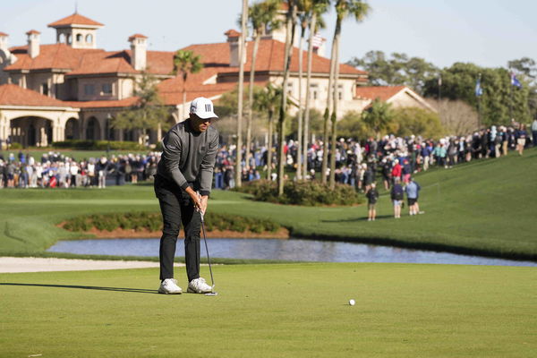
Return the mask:
<svg viewBox="0 0 537 358"><path fill-rule="evenodd" d="M400 249L362 243L302 239L207 239L211 258L325 262L400 262L460 265L537 266L537 262L492 259L455 253ZM201 253L205 249L201 243ZM158 256L159 239L61 241L48 251L116 256ZM184 256L177 241L177 256Z"/></svg>

